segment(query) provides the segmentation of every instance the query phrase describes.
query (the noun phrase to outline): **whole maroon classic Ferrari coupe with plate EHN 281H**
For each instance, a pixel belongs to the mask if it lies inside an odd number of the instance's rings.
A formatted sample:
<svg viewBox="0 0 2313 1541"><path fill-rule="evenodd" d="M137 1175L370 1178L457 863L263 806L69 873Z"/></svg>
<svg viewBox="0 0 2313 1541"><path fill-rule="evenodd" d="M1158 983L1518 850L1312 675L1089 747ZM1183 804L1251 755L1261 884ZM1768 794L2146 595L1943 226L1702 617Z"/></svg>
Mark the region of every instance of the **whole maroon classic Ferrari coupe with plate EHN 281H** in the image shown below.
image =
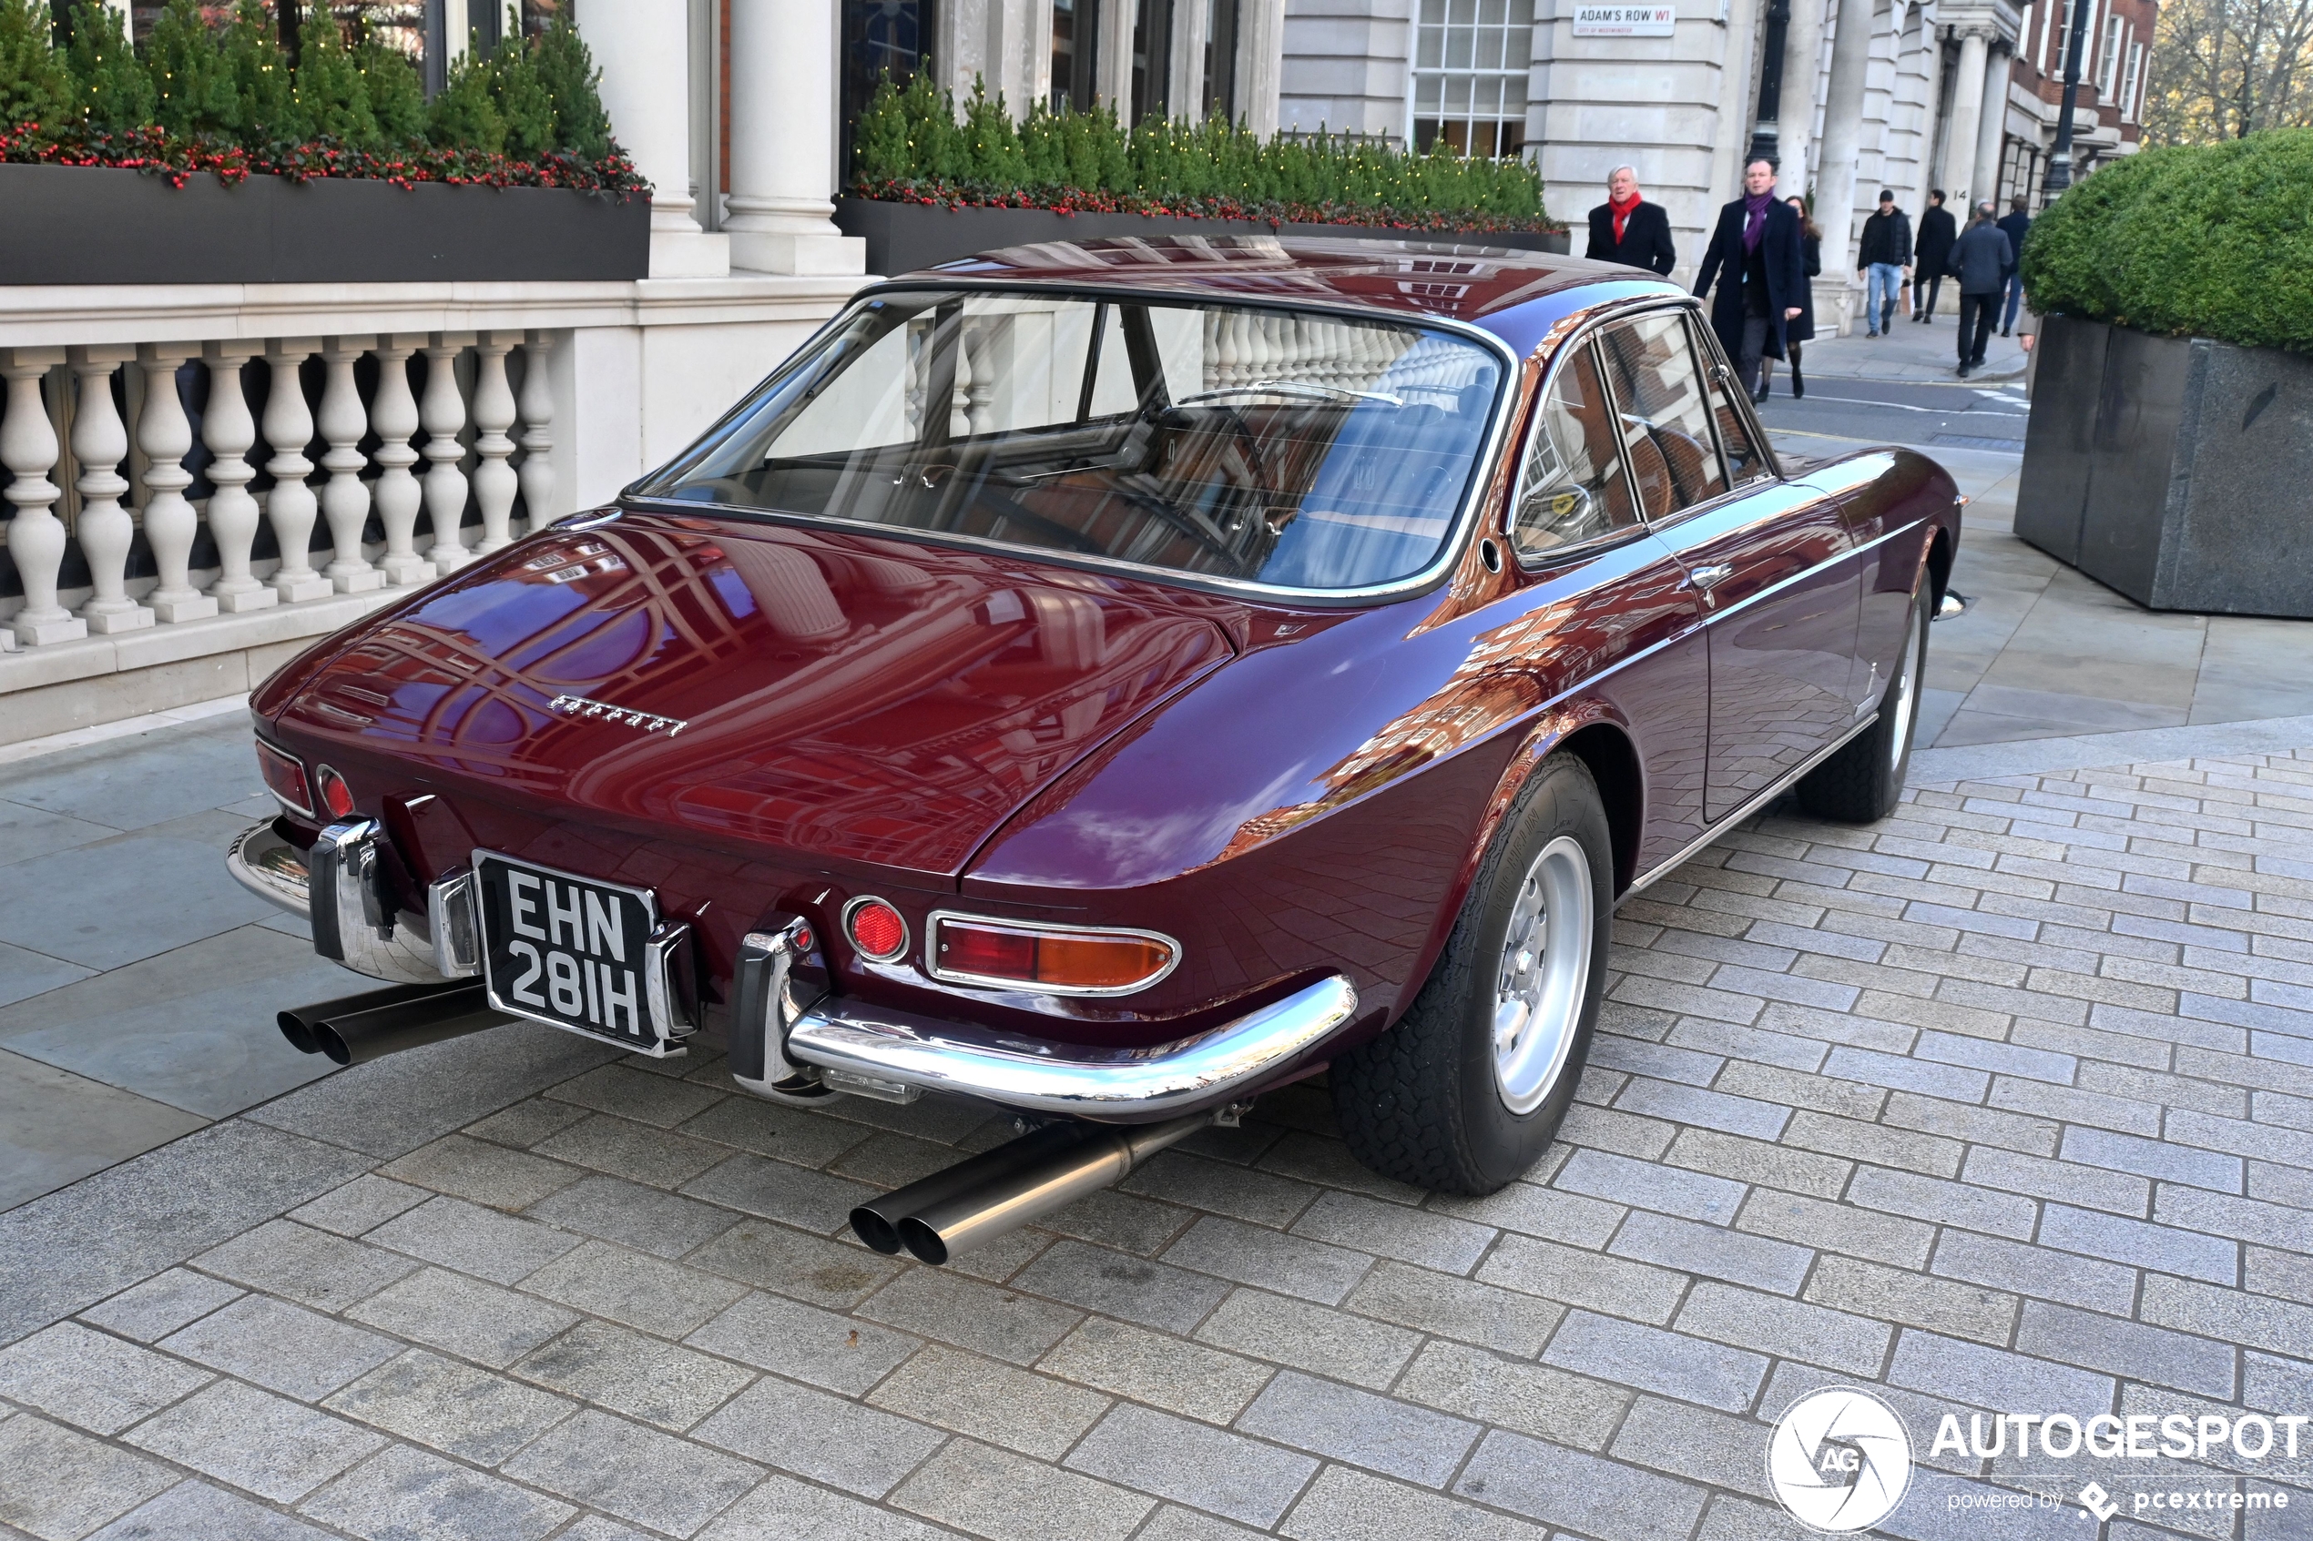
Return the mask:
<svg viewBox="0 0 2313 1541"><path fill-rule="evenodd" d="M782 1102L1022 1139L853 1215L925 1261L1330 1072L1376 1171L1550 1141L1608 917L1786 788L1904 783L1959 541L1786 462L1695 305L1471 247L1020 247L872 284L673 464L254 698L236 876L396 982L719 1040Z"/></svg>

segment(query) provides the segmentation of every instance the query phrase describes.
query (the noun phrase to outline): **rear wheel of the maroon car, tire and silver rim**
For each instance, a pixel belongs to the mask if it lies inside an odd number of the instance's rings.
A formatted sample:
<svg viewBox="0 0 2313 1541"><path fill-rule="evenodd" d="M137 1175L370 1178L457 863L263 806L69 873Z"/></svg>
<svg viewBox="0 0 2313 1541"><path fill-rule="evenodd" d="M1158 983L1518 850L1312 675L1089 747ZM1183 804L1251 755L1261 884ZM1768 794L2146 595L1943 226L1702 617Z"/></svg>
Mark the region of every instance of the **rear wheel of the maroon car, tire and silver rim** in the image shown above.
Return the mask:
<svg viewBox="0 0 2313 1541"><path fill-rule="evenodd" d="M1332 1063L1335 1114L1360 1162L1485 1194L1540 1160L1598 1017L1610 850L1589 767L1543 760L1406 1017Z"/></svg>

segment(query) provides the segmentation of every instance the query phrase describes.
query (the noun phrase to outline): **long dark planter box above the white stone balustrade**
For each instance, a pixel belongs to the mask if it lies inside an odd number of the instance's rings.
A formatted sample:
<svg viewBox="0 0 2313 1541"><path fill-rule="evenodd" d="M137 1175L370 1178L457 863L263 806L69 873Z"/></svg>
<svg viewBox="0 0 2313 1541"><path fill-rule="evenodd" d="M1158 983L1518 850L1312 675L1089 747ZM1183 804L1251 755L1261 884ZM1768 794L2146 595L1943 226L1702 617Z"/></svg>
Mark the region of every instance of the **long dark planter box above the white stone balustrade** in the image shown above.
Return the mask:
<svg viewBox="0 0 2313 1541"><path fill-rule="evenodd" d="M634 280L650 201L567 187L0 166L0 284Z"/></svg>

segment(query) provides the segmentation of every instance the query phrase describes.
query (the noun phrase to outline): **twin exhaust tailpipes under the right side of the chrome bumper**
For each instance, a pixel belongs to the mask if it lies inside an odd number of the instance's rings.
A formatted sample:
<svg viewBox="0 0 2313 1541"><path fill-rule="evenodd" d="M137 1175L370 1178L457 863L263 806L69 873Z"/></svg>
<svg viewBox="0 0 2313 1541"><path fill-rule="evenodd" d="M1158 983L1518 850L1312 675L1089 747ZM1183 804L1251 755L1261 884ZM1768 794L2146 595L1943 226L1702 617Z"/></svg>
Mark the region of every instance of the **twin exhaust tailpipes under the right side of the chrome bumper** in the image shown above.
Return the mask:
<svg viewBox="0 0 2313 1541"><path fill-rule="evenodd" d="M877 1252L907 1248L939 1266L1008 1236L1087 1192L1124 1178L1166 1146L1196 1134L1212 1114L1168 1123L1059 1123L934 1171L851 1211L851 1231Z"/></svg>

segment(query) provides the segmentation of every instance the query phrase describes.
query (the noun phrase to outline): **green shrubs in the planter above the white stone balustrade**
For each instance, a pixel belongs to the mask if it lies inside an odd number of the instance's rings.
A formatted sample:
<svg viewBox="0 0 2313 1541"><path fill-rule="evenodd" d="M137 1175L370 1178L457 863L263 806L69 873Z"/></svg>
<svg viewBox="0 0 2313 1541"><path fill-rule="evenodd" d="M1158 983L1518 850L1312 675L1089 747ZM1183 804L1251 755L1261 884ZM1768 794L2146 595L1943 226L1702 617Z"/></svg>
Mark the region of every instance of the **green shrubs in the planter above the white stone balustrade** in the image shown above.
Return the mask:
<svg viewBox="0 0 2313 1541"><path fill-rule="evenodd" d="M601 109L601 72L569 18L523 37L509 16L495 51L470 51L426 99L416 65L379 37L340 28L312 5L296 62L275 14L241 0L213 25L197 0L169 0L141 46L120 12L74 0L65 28L42 0L0 0L0 132L12 159L210 169L234 155L245 169L354 171L377 157L419 155L412 176L449 157L504 157L557 166L564 180L620 185L622 162ZM58 32L69 37L56 46ZM433 152L430 157L426 152ZM319 166L331 169L319 169Z"/></svg>

